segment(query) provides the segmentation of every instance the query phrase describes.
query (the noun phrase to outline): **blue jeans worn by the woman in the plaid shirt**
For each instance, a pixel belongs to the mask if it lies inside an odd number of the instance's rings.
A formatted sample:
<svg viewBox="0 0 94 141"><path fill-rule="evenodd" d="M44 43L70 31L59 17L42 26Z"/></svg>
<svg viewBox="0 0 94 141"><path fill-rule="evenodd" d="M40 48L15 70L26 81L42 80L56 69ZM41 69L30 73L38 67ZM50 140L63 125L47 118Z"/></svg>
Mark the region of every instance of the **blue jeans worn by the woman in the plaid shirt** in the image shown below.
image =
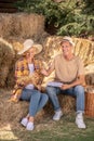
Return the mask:
<svg viewBox="0 0 94 141"><path fill-rule="evenodd" d="M29 101L29 115L35 116L38 111L40 111L48 102L48 94L41 93L40 91L33 89L24 89L21 95L21 100Z"/></svg>

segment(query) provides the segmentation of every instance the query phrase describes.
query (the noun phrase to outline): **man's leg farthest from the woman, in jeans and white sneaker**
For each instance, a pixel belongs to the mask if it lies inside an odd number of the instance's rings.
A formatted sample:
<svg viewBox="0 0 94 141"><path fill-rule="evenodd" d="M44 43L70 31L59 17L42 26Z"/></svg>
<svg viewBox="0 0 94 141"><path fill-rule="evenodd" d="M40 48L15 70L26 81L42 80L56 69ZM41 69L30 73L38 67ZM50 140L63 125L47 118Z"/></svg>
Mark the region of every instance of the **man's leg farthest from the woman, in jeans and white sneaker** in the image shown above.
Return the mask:
<svg viewBox="0 0 94 141"><path fill-rule="evenodd" d="M85 128L85 124L83 121L83 113L84 113L84 88L82 86L76 86L66 90L66 92L70 95L76 97L76 105L77 105L77 116L76 124L78 128Z"/></svg>

